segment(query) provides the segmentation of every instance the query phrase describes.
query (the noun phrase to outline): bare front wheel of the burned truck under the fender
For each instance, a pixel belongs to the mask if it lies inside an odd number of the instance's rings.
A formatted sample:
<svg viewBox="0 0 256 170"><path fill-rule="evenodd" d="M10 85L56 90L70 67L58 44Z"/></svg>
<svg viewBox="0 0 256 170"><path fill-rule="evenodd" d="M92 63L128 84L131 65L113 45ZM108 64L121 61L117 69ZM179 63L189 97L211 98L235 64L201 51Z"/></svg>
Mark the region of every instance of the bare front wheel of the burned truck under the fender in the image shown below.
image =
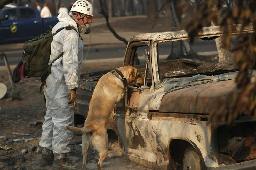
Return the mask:
<svg viewBox="0 0 256 170"><path fill-rule="evenodd" d="M201 159L192 146L189 146L184 153L183 170L203 170Z"/></svg>

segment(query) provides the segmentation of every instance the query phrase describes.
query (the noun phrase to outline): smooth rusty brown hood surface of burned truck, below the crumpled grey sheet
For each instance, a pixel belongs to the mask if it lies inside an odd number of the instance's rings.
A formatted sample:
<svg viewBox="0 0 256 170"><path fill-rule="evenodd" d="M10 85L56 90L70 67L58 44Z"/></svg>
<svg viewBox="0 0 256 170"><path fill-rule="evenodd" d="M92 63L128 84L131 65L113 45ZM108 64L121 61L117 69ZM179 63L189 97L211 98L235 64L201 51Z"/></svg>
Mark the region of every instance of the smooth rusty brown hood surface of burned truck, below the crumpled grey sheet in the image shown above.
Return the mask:
<svg viewBox="0 0 256 170"><path fill-rule="evenodd" d="M251 79L255 81L256 77ZM176 90L164 95L159 111L209 114L212 107L232 92L235 86L235 80L227 80Z"/></svg>

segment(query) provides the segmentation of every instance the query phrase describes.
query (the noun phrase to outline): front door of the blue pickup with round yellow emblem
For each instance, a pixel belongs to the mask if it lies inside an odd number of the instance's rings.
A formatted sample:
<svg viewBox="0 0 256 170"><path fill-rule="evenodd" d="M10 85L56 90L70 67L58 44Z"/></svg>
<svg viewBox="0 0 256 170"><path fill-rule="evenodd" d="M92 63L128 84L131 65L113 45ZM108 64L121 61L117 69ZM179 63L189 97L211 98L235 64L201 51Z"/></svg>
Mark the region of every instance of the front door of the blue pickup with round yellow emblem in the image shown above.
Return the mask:
<svg viewBox="0 0 256 170"><path fill-rule="evenodd" d="M18 28L16 24L19 21L17 11L17 8L14 8L7 9L1 13L0 18L6 17L6 19L0 21L0 41L5 42L21 36L17 32Z"/></svg>

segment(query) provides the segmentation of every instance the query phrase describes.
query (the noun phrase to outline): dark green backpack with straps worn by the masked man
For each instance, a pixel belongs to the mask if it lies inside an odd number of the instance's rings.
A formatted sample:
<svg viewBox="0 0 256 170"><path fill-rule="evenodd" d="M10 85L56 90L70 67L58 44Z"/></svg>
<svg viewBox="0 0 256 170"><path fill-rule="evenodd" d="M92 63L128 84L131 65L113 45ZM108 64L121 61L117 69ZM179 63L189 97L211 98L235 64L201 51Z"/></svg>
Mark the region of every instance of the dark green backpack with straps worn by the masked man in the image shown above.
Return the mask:
<svg viewBox="0 0 256 170"><path fill-rule="evenodd" d="M24 65L24 78L40 77L42 86L44 85L46 78L49 76L49 74L51 74L52 64L63 55L62 52L52 61L50 65L48 64L51 55L51 42L53 40L53 36L64 28L66 28L66 30L73 29L76 31L73 26L69 25L59 28L55 33L52 34L52 27L50 26L50 30L47 31L47 33L43 33L40 36L25 42L22 55L22 62ZM40 88L40 92L42 90L42 86Z"/></svg>

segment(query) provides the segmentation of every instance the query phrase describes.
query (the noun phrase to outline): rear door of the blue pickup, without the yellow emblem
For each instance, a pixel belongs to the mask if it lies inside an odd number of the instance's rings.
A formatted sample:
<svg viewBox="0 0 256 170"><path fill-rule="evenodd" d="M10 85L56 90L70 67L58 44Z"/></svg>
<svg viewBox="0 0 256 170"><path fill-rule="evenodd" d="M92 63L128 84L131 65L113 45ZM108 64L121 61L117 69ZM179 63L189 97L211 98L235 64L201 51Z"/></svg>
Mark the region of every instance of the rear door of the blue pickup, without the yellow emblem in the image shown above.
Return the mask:
<svg viewBox="0 0 256 170"><path fill-rule="evenodd" d="M22 40L27 41L42 34L42 19L39 16L36 16L34 9L21 8L18 12L20 14L20 20L17 23L17 32L23 35L21 37Z"/></svg>

